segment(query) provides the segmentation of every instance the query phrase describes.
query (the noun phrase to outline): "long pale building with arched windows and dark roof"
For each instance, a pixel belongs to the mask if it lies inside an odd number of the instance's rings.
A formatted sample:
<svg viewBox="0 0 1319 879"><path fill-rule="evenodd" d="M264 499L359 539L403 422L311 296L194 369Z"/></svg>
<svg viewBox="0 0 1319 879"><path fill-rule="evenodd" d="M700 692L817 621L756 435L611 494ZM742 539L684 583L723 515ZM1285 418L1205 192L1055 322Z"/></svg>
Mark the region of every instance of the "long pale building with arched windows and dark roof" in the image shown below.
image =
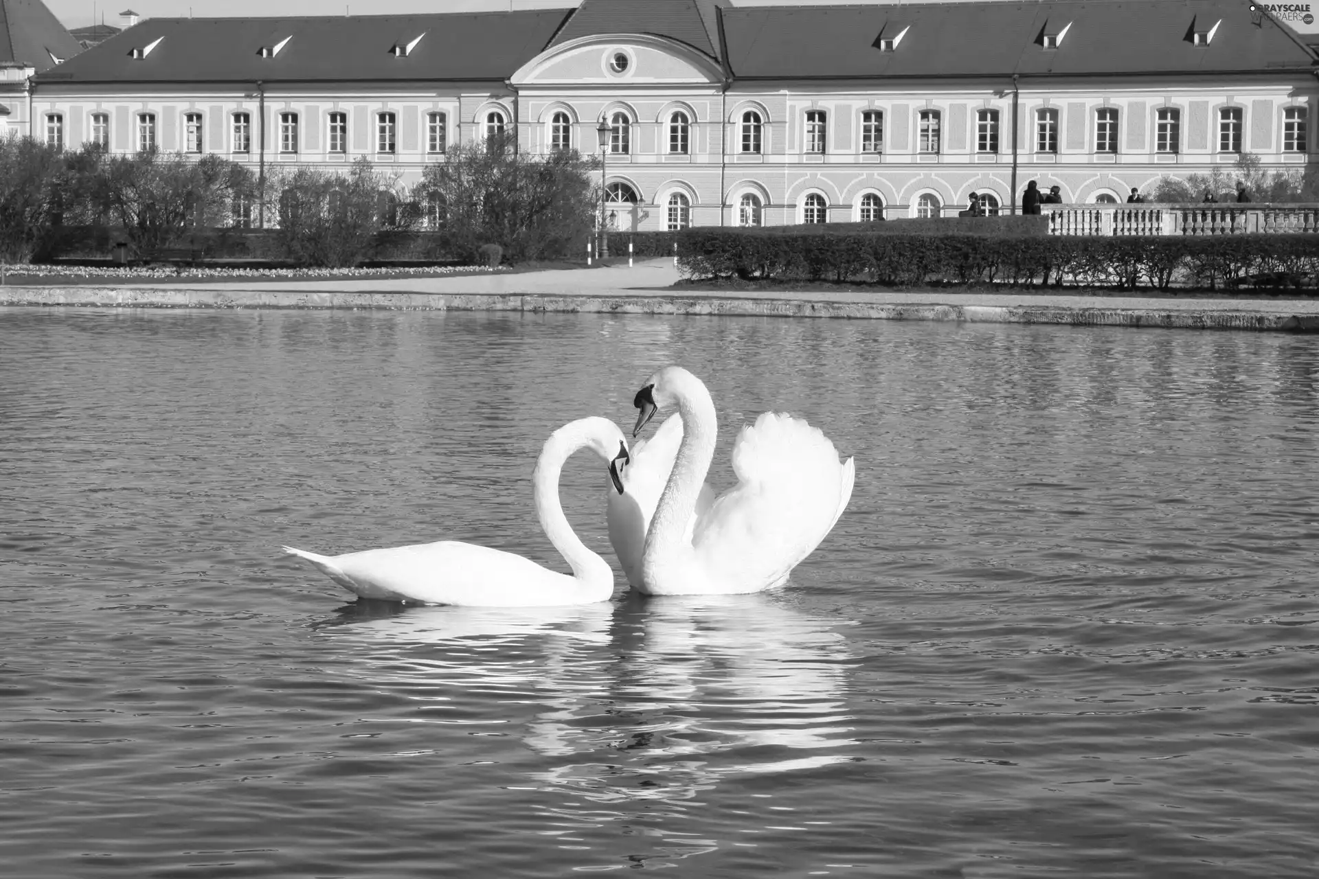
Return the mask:
<svg viewBox="0 0 1319 879"><path fill-rule="evenodd" d="M1315 159L1315 55L1245 0L574 9L148 20L32 79L33 136L264 169L456 145L600 153L615 228L938 216L1028 181ZM277 177L273 174L272 177Z"/></svg>

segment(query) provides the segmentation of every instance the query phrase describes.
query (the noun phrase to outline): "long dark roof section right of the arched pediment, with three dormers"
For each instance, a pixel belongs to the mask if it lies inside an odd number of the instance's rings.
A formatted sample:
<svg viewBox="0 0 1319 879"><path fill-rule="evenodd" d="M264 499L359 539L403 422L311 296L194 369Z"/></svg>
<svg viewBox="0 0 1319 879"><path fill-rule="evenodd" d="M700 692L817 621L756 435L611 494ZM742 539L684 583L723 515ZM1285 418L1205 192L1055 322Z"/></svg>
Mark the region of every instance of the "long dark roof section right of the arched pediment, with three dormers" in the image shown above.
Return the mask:
<svg viewBox="0 0 1319 879"><path fill-rule="evenodd" d="M735 76L985 76L1240 72L1310 67L1298 37L1246 0L1091 0L914 5L737 7L723 11ZM1196 30L1223 24L1208 46ZM1071 22L1058 49L1041 33ZM885 25L889 24L889 28ZM897 49L878 36L911 25Z"/></svg>

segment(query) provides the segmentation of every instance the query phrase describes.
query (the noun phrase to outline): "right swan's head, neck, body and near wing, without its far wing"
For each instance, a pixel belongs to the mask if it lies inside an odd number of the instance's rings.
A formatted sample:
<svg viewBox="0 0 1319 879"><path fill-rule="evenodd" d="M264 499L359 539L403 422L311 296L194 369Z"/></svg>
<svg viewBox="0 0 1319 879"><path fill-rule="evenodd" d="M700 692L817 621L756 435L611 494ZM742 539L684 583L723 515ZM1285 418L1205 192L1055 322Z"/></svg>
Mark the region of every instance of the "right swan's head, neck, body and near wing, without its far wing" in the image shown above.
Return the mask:
<svg viewBox="0 0 1319 879"><path fill-rule="evenodd" d="M678 459L646 532L641 592L731 594L782 584L830 532L852 497L852 459L806 422L764 412L733 445L737 485L719 496L695 531L687 526L715 455L715 405L686 369L652 376L633 403L633 436L657 409L677 406L683 436Z"/></svg>

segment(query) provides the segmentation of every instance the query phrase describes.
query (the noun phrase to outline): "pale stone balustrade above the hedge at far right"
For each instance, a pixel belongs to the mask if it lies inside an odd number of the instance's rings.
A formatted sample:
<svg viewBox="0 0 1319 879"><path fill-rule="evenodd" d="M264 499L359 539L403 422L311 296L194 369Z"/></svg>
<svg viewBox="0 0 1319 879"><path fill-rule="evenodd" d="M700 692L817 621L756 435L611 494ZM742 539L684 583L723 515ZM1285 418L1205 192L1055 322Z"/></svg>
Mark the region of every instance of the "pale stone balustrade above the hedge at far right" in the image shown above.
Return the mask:
<svg viewBox="0 0 1319 879"><path fill-rule="evenodd" d="M1319 204L1041 204L1049 235L1319 233Z"/></svg>

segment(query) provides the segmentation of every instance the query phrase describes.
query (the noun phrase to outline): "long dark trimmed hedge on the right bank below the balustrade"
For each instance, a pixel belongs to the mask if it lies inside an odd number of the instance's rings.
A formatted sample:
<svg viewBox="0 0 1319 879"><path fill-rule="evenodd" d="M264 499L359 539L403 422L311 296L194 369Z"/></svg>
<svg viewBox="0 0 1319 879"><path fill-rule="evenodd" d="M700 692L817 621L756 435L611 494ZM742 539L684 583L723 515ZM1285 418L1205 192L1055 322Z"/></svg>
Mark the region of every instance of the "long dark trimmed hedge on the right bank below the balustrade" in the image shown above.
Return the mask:
<svg viewBox="0 0 1319 879"><path fill-rule="evenodd" d="M1031 217L1033 219L1033 217ZM894 235L699 228L679 233L678 265L698 279L863 281L893 286L1068 283L1167 290L1245 281L1315 287L1319 235L1083 237Z"/></svg>

